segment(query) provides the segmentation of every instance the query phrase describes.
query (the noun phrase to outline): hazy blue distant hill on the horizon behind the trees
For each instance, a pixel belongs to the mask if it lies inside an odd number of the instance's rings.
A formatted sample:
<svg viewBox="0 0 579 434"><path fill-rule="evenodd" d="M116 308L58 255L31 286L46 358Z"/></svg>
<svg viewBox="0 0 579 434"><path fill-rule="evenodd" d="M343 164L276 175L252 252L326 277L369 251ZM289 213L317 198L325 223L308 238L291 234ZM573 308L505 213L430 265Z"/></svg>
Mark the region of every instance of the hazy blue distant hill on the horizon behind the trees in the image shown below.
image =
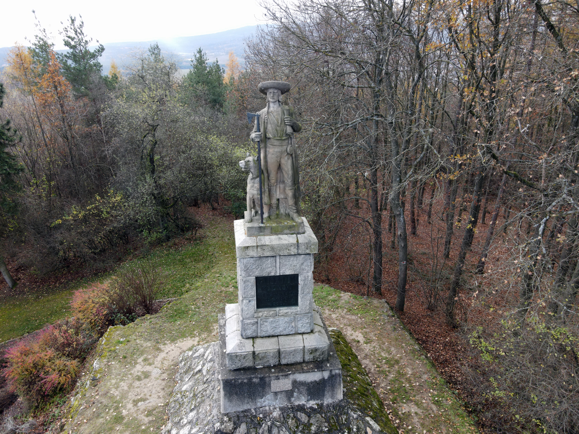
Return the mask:
<svg viewBox="0 0 579 434"><path fill-rule="evenodd" d="M131 62L134 53L147 50L148 47L157 42L164 52L172 53L180 69L191 67L190 59L199 47L207 53L207 57L212 62L216 58L222 66L225 65L229 52L235 53L240 63L244 63L244 39L255 33L257 26L248 25L246 27L226 30L225 32L212 33L208 35L182 36L181 38L163 39L140 42L111 42L103 43L105 52L102 53L100 62L102 72L107 73L111 66L111 60L122 68L123 64ZM0 68L6 64L6 56L12 47L0 48ZM94 48L94 47L93 47ZM58 50L64 52L64 50Z"/></svg>

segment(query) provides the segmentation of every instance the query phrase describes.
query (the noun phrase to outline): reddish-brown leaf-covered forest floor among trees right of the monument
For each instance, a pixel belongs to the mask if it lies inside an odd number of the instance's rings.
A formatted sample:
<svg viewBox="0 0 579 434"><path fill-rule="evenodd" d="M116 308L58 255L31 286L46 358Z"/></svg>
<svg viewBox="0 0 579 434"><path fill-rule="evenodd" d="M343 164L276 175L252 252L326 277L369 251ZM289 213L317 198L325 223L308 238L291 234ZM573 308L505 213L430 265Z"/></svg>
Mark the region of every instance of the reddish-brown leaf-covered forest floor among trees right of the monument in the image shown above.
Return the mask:
<svg viewBox="0 0 579 434"><path fill-rule="evenodd" d="M425 196L428 193L430 192L425 193ZM397 314L417 343L427 352L442 377L465 400L472 397L473 393L477 393L472 389L471 379L465 378L463 369L464 362L467 359L472 360L475 355L474 348L468 342L468 334L477 326L489 329L500 325L500 319L506 314L502 309L507 295L495 294L490 288L494 279L503 275L497 267L504 267L508 258L504 241L510 236L510 232L504 233L501 227L505 222L502 208L494 230L495 239L486 262L487 274L484 277L474 274L492 218L494 200L494 197L489 197L485 223L481 223L481 207L472 248L467 254L457 302L460 329L454 329L446 324L443 308L464 227L455 225L450 255L445 259L442 253L446 222L441 219L442 198L435 197L432 223L427 223L427 204L420 214L417 212L420 219L416 235L411 235L408 203L405 209L408 231L408 281L404 312ZM459 206L460 203L456 205L457 212ZM468 207L470 202L467 203ZM354 209L354 213L364 219L370 215L369 209L364 208ZM468 218L468 209L463 212L462 217L463 220ZM391 248L392 233L387 231L387 214L384 214L383 218L382 295L372 291L372 272L368 269L370 262L368 231L360 224L360 220L350 217L342 223L339 236L332 245L332 252L328 258L321 258L321 255L318 257L320 263L316 263L314 267L314 278L317 282L323 282L345 292L382 299L394 307L397 297L398 245L395 245L394 249ZM359 263L366 265L365 267L355 265ZM513 281L512 285L516 285L516 282ZM427 306L429 301L430 309Z"/></svg>

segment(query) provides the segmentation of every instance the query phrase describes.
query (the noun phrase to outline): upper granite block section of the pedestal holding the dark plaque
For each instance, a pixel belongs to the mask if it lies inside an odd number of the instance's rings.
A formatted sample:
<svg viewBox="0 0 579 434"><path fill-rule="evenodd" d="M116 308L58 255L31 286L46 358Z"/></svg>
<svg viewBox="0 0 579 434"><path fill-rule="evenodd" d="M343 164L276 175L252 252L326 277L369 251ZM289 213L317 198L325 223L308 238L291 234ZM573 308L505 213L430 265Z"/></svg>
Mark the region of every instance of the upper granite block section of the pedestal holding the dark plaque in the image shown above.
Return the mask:
<svg viewBox="0 0 579 434"><path fill-rule="evenodd" d="M305 218L303 234L251 237L234 222L242 339L310 333L318 241Z"/></svg>

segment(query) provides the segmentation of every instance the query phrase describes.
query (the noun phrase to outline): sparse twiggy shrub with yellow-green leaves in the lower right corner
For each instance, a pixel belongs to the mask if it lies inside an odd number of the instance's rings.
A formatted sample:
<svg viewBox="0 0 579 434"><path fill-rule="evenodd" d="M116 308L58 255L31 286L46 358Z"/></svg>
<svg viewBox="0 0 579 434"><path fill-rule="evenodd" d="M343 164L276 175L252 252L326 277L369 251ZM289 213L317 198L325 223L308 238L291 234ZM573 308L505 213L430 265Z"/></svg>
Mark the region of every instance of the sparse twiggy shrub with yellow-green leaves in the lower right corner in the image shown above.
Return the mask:
<svg viewBox="0 0 579 434"><path fill-rule="evenodd" d="M577 324L531 315L502 325L492 336L479 328L470 340L481 357L466 373L486 422L511 431L579 432Z"/></svg>

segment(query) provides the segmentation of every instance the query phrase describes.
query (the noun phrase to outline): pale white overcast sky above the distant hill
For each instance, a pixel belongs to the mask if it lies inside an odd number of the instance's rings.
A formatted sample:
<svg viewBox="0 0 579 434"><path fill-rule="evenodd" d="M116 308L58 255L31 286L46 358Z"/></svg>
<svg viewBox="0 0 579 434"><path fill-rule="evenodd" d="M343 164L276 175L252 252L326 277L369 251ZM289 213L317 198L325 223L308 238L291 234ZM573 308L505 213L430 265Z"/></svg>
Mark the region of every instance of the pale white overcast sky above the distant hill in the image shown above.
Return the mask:
<svg viewBox="0 0 579 434"><path fill-rule="evenodd" d="M19 0L3 2L0 47L14 42L27 45L35 35L34 15L55 36L69 14L82 15L85 33L101 43L151 41L175 36L195 36L263 23L257 0Z"/></svg>

